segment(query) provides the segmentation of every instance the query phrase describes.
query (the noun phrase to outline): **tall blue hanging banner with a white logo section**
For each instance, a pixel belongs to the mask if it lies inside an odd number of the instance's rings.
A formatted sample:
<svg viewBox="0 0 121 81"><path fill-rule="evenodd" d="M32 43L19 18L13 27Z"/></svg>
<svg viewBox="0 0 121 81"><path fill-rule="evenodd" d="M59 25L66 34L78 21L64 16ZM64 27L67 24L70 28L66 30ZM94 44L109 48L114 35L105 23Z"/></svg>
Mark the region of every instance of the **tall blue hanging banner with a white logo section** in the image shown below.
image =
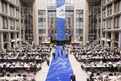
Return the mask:
<svg viewBox="0 0 121 81"><path fill-rule="evenodd" d="M57 40L65 40L65 0L56 0Z"/></svg>

